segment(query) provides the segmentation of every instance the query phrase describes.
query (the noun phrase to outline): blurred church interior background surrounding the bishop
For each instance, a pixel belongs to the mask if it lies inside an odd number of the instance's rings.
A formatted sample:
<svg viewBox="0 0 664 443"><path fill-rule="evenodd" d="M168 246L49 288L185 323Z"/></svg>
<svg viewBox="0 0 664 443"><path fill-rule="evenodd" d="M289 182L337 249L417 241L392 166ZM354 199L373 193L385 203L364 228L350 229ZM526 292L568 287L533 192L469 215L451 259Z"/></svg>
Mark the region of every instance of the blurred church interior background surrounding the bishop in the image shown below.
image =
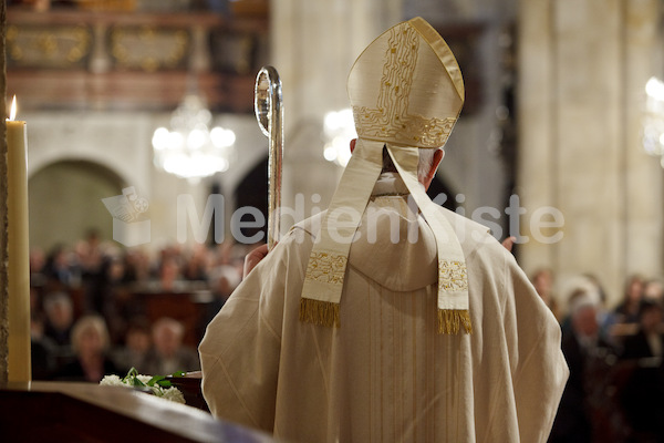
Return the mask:
<svg viewBox="0 0 664 443"><path fill-rule="evenodd" d="M419 16L466 91L429 196L516 238L563 351L566 330L592 341L566 353L557 424L588 442L662 435L663 2L8 0L6 12L7 107L15 95L27 126L32 380L199 370L207 322L268 240L258 72L281 81L283 234L328 206L347 162L354 60ZM72 365L86 322L107 350L101 372ZM647 328L641 354L630 343ZM570 441L557 424L550 441Z"/></svg>

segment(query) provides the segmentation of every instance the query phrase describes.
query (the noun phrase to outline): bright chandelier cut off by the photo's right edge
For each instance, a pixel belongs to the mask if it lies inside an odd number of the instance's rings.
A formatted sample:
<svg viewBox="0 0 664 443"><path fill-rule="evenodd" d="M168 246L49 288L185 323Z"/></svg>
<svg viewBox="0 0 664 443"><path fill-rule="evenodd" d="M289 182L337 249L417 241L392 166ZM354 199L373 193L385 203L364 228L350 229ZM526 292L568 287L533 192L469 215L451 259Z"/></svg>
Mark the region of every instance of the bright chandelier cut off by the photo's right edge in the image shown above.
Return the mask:
<svg viewBox="0 0 664 443"><path fill-rule="evenodd" d="M664 83L651 78L645 84L645 114L643 116L643 150L660 157L664 167Z"/></svg>

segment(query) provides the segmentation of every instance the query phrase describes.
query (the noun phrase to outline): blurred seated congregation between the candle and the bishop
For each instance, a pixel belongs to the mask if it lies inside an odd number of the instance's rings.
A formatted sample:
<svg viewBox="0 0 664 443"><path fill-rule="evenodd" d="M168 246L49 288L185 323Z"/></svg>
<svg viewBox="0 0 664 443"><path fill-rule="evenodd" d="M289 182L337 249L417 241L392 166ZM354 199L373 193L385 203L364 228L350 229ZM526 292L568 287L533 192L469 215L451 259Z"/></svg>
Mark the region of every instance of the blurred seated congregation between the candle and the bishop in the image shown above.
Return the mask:
<svg viewBox="0 0 664 443"><path fill-rule="evenodd" d="M239 284L243 245L122 250L89 233L31 251L34 380L199 370L205 327Z"/></svg>

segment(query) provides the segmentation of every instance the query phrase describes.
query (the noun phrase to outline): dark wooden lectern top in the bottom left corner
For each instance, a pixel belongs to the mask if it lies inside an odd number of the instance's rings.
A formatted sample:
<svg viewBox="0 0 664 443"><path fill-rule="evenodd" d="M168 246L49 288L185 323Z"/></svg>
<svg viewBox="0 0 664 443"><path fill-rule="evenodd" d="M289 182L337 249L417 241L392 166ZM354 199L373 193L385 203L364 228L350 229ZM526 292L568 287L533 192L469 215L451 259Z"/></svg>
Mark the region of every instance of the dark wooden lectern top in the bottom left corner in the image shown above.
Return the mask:
<svg viewBox="0 0 664 443"><path fill-rule="evenodd" d="M0 387L0 442L242 442L270 435L122 387L31 382Z"/></svg>

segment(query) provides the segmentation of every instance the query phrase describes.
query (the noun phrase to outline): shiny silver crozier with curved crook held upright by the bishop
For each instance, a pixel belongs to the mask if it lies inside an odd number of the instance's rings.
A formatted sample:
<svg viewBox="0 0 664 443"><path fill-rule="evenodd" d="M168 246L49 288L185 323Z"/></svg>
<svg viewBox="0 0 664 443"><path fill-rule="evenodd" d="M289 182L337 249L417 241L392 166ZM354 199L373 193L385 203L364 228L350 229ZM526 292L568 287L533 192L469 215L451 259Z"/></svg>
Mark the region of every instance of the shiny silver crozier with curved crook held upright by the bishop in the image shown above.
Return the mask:
<svg viewBox="0 0 664 443"><path fill-rule="evenodd" d="M268 249L279 236L281 218L281 161L283 158L283 106L281 80L272 66L263 66L256 78L253 110L258 125L270 140L268 154Z"/></svg>

